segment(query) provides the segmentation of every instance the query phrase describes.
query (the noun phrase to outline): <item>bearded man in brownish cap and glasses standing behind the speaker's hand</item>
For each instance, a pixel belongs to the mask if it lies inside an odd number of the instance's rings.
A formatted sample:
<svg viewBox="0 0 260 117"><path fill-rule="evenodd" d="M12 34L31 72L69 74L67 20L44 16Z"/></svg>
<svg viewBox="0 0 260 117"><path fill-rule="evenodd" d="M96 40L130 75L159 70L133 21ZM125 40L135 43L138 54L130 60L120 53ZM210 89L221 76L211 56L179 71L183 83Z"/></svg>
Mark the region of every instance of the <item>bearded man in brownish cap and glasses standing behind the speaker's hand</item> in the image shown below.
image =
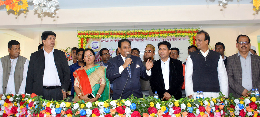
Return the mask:
<svg viewBox="0 0 260 117"><path fill-rule="evenodd" d="M144 49L144 56L143 56L143 65L145 66L145 63L147 62L147 60L152 60L152 62L155 62L154 60L154 55L155 55L155 48L154 48L154 45L151 45L151 44L147 44L145 49ZM140 79L140 82L141 82L141 88L142 88L142 92L143 92L143 95L144 94L149 94L151 96L154 95L152 89L151 89L151 86L150 86L150 81L145 81L143 79Z"/></svg>

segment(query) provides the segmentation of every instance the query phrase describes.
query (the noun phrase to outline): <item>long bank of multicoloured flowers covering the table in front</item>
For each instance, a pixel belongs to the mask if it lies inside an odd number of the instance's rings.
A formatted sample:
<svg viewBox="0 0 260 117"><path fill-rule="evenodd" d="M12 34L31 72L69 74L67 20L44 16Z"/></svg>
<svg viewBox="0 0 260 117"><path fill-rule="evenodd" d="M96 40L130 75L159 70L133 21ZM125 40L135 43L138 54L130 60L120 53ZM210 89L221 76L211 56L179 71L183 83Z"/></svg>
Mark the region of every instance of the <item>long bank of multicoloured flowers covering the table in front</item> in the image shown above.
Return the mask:
<svg viewBox="0 0 260 117"><path fill-rule="evenodd" d="M2 117L260 117L260 99L234 98L224 95L216 99L189 99L169 101L152 96L106 100L104 102L65 102L41 99L42 96L4 94L0 100Z"/></svg>

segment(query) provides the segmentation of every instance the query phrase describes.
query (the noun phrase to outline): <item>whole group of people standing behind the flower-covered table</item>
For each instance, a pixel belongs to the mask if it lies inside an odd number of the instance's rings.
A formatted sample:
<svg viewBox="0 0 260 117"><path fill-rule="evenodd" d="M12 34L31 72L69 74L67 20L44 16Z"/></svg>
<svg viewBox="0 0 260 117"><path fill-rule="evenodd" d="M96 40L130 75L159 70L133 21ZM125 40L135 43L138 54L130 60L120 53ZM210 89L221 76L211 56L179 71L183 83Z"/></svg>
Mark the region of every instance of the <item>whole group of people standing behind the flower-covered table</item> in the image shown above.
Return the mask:
<svg viewBox="0 0 260 117"><path fill-rule="evenodd" d="M64 52L54 49L56 34L42 33L42 44L31 54L30 61L20 56L20 43L8 43L9 55L0 60L0 97L3 94L43 95L43 99L62 100L71 95L75 102L127 99L133 95L158 96L169 100L172 96L196 99L197 91L204 97L216 98L219 92L226 97L247 97L251 89L260 88L260 57L247 35L236 39L238 52L225 56L225 45L209 48L210 36L205 31L196 35L196 46L187 48L187 61L182 64L180 50L167 41L159 42L159 60L154 60L155 46L131 48L127 39L118 41L116 56L111 58L107 48L99 51L102 61L95 65L92 49L71 48L72 60ZM144 50L143 61L140 50ZM68 94L68 91L71 91Z"/></svg>

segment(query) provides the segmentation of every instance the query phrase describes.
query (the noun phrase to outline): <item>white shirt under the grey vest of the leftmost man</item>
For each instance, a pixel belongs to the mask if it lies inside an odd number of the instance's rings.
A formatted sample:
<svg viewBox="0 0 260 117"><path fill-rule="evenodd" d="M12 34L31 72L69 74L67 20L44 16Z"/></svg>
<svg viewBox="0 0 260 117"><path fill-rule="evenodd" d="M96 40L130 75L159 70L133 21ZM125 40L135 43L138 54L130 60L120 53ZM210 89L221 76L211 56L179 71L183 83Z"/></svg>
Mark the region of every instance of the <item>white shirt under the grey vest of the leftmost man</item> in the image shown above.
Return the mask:
<svg viewBox="0 0 260 117"><path fill-rule="evenodd" d="M26 85L26 77L27 77L27 70L28 70L28 65L29 65L29 60L26 59L26 62L24 63L23 66L23 81L22 84L19 88L18 92L15 92L15 82L14 82L14 73L15 73L15 67L17 63L17 59L10 59L11 60L11 72L9 75L7 87L6 87L6 92L3 92L3 66L2 62L0 61L0 94L24 94L25 93L25 85Z"/></svg>

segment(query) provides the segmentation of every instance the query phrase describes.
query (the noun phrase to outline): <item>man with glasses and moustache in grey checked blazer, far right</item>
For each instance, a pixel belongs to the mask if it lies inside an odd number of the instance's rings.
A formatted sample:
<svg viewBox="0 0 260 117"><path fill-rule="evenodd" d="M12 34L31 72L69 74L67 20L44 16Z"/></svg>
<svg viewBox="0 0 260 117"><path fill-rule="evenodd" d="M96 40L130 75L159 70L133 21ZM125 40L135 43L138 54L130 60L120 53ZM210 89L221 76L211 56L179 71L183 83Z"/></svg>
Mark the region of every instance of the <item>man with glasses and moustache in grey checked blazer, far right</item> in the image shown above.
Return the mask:
<svg viewBox="0 0 260 117"><path fill-rule="evenodd" d="M252 88L260 88L260 57L252 54L247 35L237 37L238 53L228 57L227 76L229 93L234 97L247 97Z"/></svg>

